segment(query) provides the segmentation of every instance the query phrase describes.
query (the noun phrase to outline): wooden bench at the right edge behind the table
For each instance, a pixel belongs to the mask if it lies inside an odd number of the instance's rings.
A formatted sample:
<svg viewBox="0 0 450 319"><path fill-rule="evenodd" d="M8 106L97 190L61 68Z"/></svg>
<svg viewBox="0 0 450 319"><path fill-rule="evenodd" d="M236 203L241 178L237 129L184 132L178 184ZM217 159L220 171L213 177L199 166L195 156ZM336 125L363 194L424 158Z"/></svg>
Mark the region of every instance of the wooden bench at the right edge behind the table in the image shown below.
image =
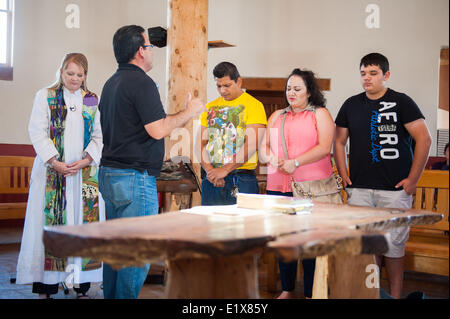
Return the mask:
<svg viewBox="0 0 450 319"><path fill-rule="evenodd" d="M413 208L444 215L432 225L411 227L406 244L405 270L449 275L449 172L425 170L417 183Z"/></svg>

